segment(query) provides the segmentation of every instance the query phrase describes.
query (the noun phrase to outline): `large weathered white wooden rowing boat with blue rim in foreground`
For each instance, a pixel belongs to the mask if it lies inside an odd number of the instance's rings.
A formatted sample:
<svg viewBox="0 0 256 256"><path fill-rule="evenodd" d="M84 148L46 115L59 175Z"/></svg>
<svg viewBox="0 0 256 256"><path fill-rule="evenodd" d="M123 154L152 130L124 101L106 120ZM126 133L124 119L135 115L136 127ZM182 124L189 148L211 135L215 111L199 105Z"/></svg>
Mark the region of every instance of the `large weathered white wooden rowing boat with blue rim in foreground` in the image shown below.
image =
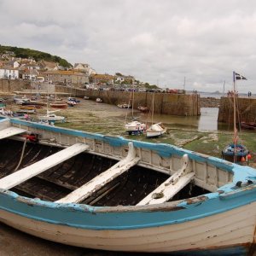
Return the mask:
<svg viewBox="0 0 256 256"><path fill-rule="evenodd" d="M253 252L249 166L14 118L0 138L0 221L17 230L110 251Z"/></svg>

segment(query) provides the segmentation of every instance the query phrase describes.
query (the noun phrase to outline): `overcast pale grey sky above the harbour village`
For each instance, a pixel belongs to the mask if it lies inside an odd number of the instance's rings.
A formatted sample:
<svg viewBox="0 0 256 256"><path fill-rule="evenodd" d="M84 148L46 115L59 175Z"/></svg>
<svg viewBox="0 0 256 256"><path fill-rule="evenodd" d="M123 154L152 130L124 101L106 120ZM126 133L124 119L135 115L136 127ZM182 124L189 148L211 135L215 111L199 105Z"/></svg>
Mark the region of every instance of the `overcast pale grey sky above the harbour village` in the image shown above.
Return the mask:
<svg viewBox="0 0 256 256"><path fill-rule="evenodd" d="M0 44L162 88L256 93L255 0L0 0Z"/></svg>

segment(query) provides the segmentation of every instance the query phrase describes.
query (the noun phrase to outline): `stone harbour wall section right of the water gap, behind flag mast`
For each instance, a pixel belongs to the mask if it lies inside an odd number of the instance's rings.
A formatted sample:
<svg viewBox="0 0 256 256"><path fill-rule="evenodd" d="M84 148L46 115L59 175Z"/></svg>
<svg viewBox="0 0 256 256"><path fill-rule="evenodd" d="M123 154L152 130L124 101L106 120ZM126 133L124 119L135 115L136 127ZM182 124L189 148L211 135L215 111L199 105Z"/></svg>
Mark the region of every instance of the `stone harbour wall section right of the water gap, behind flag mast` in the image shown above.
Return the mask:
<svg viewBox="0 0 256 256"><path fill-rule="evenodd" d="M233 124L234 107L232 97L222 97L220 99L218 122ZM238 122L255 122L256 116L256 99L255 98L237 98L236 102L236 121Z"/></svg>

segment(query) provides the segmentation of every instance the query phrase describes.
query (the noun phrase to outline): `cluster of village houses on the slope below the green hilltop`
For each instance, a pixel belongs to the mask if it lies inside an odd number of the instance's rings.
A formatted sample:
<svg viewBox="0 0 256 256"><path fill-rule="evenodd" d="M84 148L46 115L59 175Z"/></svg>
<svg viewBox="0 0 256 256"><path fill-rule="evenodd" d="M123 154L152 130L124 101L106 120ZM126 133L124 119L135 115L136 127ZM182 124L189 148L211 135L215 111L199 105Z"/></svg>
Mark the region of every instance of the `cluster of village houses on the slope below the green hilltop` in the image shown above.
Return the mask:
<svg viewBox="0 0 256 256"><path fill-rule="evenodd" d="M114 87L121 89L122 85L131 84L137 84L137 87L144 90L145 85L149 85L140 83L130 75L96 73L89 64L85 63L75 63L73 67L62 67L58 62L16 57L14 52L7 50L0 53L0 79L22 79L91 90Z"/></svg>

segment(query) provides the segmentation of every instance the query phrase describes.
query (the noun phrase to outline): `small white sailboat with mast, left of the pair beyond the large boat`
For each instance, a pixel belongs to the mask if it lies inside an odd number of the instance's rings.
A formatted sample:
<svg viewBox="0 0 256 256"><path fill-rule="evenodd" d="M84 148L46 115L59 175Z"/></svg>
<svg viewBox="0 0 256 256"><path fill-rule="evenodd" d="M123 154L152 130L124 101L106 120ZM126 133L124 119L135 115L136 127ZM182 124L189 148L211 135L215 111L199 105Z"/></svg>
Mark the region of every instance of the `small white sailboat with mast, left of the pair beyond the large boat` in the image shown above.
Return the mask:
<svg viewBox="0 0 256 256"><path fill-rule="evenodd" d="M132 96L132 100L131 100L131 96ZM128 105L130 105L130 102L131 102L132 121L129 122L129 123L126 123L126 119L127 119L127 113L126 113L126 117L125 117L125 131L129 135L140 135L144 131L146 131L147 125L137 121L136 118L134 118L134 116L133 116L133 109L134 109L134 104L133 104L134 103L134 86L132 86L131 95L130 95L130 99L129 99Z"/></svg>

